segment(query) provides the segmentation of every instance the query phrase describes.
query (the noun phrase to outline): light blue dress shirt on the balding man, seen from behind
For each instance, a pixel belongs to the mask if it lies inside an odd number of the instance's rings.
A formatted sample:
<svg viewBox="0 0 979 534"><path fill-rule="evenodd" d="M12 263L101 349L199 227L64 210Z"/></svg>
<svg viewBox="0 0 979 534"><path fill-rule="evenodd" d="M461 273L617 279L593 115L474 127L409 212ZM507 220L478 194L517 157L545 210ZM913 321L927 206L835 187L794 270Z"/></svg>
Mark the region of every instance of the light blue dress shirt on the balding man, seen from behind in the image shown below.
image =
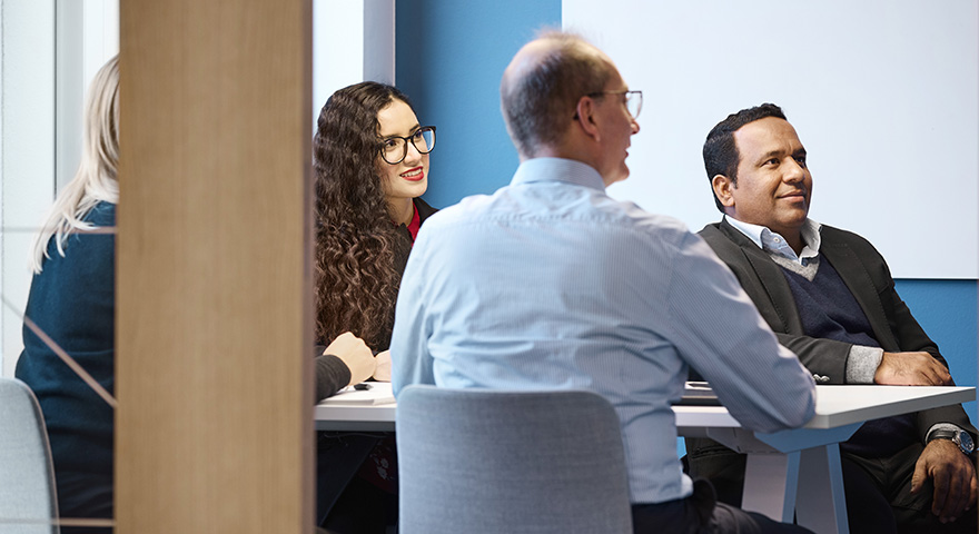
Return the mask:
<svg viewBox="0 0 979 534"><path fill-rule="evenodd" d="M435 384L603 395L622 423L633 503L691 494L670 408L688 365L751 429L799 426L815 402L810 374L700 237L610 198L592 167L566 159L525 161L510 186L425 222L390 353L396 394Z"/></svg>

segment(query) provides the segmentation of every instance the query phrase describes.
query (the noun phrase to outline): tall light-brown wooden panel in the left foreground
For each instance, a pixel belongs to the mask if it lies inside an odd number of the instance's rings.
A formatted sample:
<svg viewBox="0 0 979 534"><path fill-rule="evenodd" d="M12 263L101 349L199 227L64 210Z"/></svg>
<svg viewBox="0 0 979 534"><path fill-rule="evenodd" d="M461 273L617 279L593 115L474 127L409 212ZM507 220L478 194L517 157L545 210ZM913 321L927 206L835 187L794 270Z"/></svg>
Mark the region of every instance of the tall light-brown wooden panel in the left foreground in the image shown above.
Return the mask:
<svg viewBox="0 0 979 534"><path fill-rule="evenodd" d="M310 531L310 1L121 2L117 533Z"/></svg>

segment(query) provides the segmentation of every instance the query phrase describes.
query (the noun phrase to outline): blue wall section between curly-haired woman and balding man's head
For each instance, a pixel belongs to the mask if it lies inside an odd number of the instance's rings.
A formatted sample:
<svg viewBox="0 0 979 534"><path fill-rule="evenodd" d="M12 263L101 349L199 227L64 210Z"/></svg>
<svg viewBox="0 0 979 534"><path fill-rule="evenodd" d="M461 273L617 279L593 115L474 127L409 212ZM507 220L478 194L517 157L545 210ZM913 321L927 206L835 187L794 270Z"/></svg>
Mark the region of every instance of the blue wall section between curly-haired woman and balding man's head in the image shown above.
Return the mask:
<svg viewBox="0 0 979 534"><path fill-rule="evenodd" d="M435 125L435 207L510 184L518 165L500 115L500 78L537 29L561 27L561 0L399 0L396 83Z"/></svg>

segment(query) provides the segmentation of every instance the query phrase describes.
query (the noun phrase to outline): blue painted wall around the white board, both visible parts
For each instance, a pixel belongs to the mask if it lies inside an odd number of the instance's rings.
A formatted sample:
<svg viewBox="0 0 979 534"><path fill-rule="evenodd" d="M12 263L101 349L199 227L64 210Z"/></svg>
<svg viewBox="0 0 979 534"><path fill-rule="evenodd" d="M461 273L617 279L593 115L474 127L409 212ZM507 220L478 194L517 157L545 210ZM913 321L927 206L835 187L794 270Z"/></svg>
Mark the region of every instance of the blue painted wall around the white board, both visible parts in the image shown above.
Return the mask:
<svg viewBox="0 0 979 534"><path fill-rule="evenodd" d="M425 199L436 207L510 182L517 156L500 115L500 77L542 27L561 26L561 0L399 0L397 85L422 122L438 127ZM959 385L977 384L976 280L898 280ZM972 421L976 403L966 406Z"/></svg>

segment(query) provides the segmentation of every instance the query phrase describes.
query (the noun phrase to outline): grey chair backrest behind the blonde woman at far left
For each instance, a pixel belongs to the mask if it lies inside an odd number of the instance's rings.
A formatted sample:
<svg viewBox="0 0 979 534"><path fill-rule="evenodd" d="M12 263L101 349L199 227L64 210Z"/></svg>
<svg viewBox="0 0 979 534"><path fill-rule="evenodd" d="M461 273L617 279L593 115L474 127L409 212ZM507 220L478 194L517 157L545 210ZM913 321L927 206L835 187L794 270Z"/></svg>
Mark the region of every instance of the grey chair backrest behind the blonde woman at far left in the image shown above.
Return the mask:
<svg viewBox="0 0 979 534"><path fill-rule="evenodd" d="M57 534L58 526L49 523L57 517L41 407L24 383L0 377L0 532Z"/></svg>

